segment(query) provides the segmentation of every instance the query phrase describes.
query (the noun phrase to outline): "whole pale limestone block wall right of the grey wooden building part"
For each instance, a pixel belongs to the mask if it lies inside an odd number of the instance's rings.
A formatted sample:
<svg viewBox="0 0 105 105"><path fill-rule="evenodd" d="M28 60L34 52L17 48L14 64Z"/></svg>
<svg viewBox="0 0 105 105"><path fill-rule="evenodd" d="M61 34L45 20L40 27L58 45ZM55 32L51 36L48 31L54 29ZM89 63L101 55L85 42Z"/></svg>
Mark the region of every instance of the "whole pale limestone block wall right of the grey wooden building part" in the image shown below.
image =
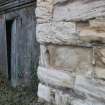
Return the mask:
<svg viewBox="0 0 105 105"><path fill-rule="evenodd" d="M105 1L37 0L39 99L105 105Z"/></svg>

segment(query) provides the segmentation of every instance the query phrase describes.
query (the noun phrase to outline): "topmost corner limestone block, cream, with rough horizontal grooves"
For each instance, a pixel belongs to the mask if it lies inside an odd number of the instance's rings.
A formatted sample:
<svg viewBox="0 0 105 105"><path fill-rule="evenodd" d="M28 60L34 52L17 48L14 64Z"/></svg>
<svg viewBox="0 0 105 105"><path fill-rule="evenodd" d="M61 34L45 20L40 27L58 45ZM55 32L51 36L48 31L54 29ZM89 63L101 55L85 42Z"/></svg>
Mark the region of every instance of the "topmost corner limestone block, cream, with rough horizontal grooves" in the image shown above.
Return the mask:
<svg viewBox="0 0 105 105"><path fill-rule="evenodd" d="M53 0L38 0L35 10L37 23L45 23L52 20Z"/></svg>

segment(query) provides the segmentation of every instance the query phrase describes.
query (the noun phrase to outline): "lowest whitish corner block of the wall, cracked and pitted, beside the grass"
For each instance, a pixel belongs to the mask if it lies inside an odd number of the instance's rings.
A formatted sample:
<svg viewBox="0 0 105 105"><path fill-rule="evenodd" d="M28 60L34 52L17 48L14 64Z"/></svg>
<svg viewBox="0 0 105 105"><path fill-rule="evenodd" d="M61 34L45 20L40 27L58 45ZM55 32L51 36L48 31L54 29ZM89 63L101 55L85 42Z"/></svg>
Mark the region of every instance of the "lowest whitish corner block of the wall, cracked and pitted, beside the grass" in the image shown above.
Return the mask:
<svg viewBox="0 0 105 105"><path fill-rule="evenodd" d="M38 97L42 101L44 100L56 105L69 105L71 103L69 94L41 83L38 86Z"/></svg>

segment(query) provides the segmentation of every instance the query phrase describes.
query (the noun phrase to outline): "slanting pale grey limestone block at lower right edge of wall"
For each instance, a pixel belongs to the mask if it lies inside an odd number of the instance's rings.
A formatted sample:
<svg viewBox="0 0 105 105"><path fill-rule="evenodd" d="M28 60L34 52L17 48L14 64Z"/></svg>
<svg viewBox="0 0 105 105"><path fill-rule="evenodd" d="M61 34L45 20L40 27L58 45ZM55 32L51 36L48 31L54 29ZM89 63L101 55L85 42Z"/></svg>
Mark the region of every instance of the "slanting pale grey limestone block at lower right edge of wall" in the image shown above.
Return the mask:
<svg viewBox="0 0 105 105"><path fill-rule="evenodd" d="M97 100L105 104L105 81L102 82L78 75L74 89L83 93L88 99Z"/></svg>

